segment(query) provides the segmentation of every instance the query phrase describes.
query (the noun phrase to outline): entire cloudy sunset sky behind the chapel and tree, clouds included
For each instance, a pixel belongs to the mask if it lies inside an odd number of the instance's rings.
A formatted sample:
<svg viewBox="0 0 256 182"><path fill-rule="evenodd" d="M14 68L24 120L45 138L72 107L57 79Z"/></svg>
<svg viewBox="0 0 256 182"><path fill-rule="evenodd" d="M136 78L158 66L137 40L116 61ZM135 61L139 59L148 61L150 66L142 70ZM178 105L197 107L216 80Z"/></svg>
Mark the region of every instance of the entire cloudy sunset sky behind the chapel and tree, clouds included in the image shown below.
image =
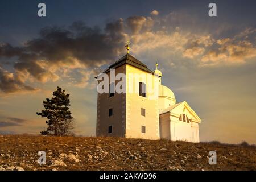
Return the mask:
<svg viewBox="0 0 256 182"><path fill-rule="evenodd" d="M38 3L46 17L38 16ZM96 132L98 73L130 54L201 118L200 140L256 143L255 1L0 1L0 133L39 134L57 86Z"/></svg>

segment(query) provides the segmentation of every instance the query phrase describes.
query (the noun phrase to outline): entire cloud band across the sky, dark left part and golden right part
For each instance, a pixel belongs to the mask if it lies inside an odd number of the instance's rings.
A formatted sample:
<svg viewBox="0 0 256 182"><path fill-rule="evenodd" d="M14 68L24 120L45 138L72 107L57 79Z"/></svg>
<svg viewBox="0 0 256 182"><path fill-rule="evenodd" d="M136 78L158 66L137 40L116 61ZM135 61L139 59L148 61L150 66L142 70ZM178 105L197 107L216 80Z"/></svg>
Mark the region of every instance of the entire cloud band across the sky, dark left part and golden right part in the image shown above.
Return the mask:
<svg viewBox="0 0 256 182"><path fill-rule="evenodd" d="M0 65L0 90L31 92L38 90L31 86L34 82L63 78L73 86L92 85L93 74L99 68L125 53L127 40L134 55L157 54L159 59L174 60L172 63L177 67L245 63L255 57L255 43L250 40L256 32L253 28L246 28L233 38L215 40L207 31L191 31L188 24L198 24L199 20L184 12L174 11L162 18L155 17L157 14L154 10L152 17L114 20L104 28L88 27L83 22L45 27L38 38L28 40L23 46L1 43L0 59L16 61L10 70L3 69L4 63Z"/></svg>

